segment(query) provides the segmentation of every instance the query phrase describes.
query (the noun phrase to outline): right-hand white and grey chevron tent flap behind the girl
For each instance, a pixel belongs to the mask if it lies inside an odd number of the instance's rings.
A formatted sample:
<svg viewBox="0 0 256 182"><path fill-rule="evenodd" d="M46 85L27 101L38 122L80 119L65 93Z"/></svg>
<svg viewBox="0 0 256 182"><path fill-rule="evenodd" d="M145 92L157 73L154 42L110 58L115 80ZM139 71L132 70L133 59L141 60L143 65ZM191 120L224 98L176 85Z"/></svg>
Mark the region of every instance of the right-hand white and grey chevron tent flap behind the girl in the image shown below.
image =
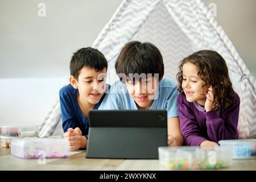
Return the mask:
<svg viewBox="0 0 256 182"><path fill-rule="evenodd" d="M201 1L166 1L166 7L197 49L210 48L220 53L228 64L234 89L240 94L240 138L256 137L256 82L238 55L228 36ZM236 76L232 76L236 75ZM240 78L237 81L237 77Z"/></svg>

